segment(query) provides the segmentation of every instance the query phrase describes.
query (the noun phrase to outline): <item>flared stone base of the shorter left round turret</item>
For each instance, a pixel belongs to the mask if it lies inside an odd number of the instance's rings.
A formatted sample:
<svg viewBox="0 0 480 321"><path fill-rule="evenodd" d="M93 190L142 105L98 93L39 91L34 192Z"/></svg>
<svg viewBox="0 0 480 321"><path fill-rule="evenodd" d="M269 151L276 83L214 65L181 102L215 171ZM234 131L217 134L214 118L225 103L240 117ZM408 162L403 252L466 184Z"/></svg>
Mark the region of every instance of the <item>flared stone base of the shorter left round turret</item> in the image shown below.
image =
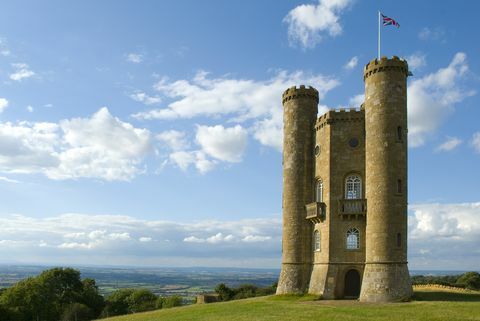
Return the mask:
<svg viewBox="0 0 480 321"><path fill-rule="evenodd" d="M307 263L282 263L276 294L304 294L310 280L311 267Z"/></svg>

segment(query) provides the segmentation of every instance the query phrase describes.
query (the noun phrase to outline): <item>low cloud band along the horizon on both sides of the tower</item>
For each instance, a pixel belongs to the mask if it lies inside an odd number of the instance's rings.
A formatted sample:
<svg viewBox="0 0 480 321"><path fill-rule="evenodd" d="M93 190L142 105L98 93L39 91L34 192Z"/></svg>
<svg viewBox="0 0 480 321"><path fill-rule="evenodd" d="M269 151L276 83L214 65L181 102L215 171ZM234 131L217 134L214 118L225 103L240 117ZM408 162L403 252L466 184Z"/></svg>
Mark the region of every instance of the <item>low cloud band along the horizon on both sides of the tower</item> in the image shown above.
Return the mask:
<svg viewBox="0 0 480 321"><path fill-rule="evenodd" d="M0 262L15 257L29 263L279 267L281 229L280 216L182 223L120 215L2 215ZM411 269L478 267L479 242L480 203L409 206Z"/></svg>

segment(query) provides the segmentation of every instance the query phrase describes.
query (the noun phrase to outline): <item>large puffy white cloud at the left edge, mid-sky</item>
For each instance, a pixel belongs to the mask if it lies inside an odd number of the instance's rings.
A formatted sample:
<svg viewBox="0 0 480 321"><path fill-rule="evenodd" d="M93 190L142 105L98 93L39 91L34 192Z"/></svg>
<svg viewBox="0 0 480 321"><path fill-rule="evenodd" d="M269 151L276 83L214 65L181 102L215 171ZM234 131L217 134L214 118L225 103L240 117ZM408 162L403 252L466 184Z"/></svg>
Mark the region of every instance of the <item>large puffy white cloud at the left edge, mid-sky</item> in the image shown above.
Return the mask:
<svg viewBox="0 0 480 321"><path fill-rule="evenodd" d="M90 118L57 123L0 123L0 171L43 173L51 179L129 180L142 172L150 132L112 116L106 107Z"/></svg>

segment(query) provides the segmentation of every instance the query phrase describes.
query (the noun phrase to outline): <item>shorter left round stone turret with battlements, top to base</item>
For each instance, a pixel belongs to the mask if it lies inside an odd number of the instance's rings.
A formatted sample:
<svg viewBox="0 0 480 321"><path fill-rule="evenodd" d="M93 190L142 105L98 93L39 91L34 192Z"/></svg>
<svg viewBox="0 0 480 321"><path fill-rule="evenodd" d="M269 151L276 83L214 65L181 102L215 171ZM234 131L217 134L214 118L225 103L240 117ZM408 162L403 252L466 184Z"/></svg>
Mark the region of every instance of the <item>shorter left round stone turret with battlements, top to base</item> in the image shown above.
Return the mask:
<svg viewBox="0 0 480 321"><path fill-rule="evenodd" d="M291 87L282 96L283 240L282 270L277 294L304 293L312 268L312 227L305 220L305 204L313 198L313 127L318 91Z"/></svg>

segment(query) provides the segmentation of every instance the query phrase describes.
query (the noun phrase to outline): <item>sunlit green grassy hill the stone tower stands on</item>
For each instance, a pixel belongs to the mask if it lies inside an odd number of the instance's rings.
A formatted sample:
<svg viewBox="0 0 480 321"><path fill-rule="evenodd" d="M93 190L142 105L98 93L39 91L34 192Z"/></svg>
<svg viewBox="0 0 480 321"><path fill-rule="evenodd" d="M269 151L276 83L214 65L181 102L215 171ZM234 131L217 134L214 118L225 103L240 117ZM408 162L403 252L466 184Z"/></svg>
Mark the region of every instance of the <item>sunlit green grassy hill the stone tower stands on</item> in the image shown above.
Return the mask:
<svg viewBox="0 0 480 321"><path fill-rule="evenodd" d="M480 292L417 288L408 303L370 304L357 301L315 300L312 296L268 296L190 305L105 321L252 321L252 320L480 320Z"/></svg>

